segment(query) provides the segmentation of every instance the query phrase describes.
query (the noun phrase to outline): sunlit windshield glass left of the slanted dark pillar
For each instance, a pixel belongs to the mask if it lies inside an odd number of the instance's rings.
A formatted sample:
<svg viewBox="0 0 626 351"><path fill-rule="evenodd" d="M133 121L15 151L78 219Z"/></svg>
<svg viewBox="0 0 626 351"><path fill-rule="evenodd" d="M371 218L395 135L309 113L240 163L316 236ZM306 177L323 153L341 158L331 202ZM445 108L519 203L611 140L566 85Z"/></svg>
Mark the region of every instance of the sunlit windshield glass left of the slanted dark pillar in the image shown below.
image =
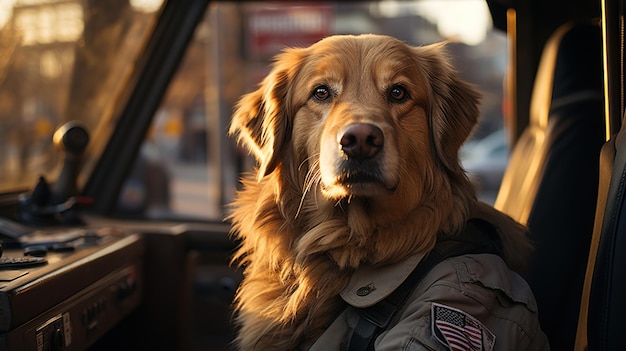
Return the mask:
<svg viewBox="0 0 626 351"><path fill-rule="evenodd" d="M54 130L80 121L102 152L162 0L0 1L0 192L55 174Z"/></svg>

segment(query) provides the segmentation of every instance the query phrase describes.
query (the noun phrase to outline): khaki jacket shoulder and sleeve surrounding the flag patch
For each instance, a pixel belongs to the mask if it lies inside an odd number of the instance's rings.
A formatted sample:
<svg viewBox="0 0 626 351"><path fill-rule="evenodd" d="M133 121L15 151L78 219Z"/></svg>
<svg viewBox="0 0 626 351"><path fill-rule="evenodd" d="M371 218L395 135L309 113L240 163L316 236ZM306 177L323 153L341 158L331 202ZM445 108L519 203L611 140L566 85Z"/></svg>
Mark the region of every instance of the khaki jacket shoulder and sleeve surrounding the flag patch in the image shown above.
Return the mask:
<svg viewBox="0 0 626 351"><path fill-rule="evenodd" d="M436 306L479 322L485 345L493 335L492 350L549 350L530 287L493 254L451 257L435 266L376 340L377 347L439 349L444 340L435 323Z"/></svg>

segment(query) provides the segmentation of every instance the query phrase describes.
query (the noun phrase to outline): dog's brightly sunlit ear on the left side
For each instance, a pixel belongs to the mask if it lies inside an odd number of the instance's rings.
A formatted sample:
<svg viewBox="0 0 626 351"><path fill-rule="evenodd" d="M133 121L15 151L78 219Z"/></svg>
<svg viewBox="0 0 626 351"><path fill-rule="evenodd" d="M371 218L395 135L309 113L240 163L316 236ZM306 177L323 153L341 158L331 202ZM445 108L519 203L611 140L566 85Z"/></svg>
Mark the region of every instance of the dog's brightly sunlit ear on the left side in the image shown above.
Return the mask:
<svg viewBox="0 0 626 351"><path fill-rule="evenodd" d="M235 106L229 134L255 156L259 180L276 168L291 134L290 90L301 51L286 49L277 55L257 90L242 96Z"/></svg>

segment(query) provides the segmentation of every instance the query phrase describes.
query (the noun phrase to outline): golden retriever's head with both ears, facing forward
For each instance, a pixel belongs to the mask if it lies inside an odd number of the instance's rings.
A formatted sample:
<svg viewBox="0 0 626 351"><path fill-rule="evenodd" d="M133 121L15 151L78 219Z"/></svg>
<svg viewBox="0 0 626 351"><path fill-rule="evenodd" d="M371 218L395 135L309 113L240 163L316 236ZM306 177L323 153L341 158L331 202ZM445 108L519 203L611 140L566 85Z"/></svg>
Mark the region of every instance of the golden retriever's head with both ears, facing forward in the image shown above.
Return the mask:
<svg viewBox="0 0 626 351"><path fill-rule="evenodd" d="M259 180L278 172L333 202L395 198L414 206L439 191L439 178L451 182L448 192L457 180L466 187L458 151L477 104L442 44L333 36L278 55L240 100L230 131L255 155Z"/></svg>

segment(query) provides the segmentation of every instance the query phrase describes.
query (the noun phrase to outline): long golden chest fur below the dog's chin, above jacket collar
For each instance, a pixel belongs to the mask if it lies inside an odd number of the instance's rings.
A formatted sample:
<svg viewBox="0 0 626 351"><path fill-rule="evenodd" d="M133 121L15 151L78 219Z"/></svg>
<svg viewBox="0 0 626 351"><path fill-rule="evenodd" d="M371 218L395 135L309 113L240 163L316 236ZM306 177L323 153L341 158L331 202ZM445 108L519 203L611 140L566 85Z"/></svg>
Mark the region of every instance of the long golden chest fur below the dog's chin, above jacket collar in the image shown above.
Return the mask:
<svg viewBox="0 0 626 351"><path fill-rule="evenodd" d="M441 226L428 206L405 221L377 226L358 200L323 210L320 203L305 204L296 216L289 202L276 204L276 194L267 191L271 183L248 183L233 215L241 238L236 257L245 267L237 295L242 350L294 350L313 342L342 311L339 293L361 262L392 263L429 250Z"/></svg>

